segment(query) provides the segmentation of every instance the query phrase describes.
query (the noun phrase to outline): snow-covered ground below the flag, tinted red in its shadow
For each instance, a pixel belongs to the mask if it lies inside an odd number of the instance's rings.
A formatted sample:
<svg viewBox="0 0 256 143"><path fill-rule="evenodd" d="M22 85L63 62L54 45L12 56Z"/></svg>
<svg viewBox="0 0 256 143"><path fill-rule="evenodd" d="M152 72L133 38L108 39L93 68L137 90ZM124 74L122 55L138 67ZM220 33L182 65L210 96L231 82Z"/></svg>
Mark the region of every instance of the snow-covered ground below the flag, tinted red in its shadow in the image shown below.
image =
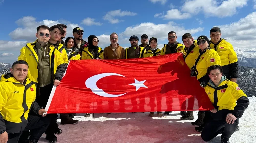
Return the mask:
<svg viewBox="0 0 256 143"><path fill-rule="evenodd" d="M256 98L249 98L250 105L240 118L240 130L230 138L231 143L253 143L256 139ZM194 111L195 121L197 111ZM179 119L180 112L170 115L149 117L146 113L94 114L94 117L75 116L76 125L61 125L62 134L57 135L59 143L99 143L99 142L184 142L200 143L200 133L191 125L192 120ZM48 142L43 135L39 143ZM210 141L220 142L220 135Z"/></svg>

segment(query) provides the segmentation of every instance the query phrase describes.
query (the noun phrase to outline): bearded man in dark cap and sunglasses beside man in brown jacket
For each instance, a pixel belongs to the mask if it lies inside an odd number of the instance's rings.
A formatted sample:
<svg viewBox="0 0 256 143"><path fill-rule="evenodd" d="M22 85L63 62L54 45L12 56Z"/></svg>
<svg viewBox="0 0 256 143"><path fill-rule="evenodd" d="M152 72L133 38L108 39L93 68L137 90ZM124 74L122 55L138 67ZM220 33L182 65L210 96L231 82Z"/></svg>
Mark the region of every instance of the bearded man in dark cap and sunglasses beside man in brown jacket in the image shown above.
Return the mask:
<svg viewBox="0 0 256 143"><path fill-rule="evenodd" d="M125 49L125 59L142 58L143 57L145 48L138 46L138 40L139 40L139 38L135 35L130 37L129 41L131 43L131 47ZM140 57L140 54L141 54L141 57Z"/></svg>

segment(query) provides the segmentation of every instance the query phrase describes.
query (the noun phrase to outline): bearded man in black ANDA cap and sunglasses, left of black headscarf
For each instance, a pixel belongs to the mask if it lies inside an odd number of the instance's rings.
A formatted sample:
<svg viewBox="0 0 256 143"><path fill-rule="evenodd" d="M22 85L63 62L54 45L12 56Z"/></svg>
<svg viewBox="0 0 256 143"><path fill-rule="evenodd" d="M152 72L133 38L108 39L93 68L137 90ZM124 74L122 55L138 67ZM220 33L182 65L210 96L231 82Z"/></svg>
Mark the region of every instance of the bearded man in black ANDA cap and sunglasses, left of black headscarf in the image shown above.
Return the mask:
<svg viewBox="0 0 256 143"><path fill-rule="evenodd" d="M74 47L79 49L80 55L82 55L83 47L88 46L88 43L83 40L83 30L79 27L74 28L73 36L75 38Z"/></svg>

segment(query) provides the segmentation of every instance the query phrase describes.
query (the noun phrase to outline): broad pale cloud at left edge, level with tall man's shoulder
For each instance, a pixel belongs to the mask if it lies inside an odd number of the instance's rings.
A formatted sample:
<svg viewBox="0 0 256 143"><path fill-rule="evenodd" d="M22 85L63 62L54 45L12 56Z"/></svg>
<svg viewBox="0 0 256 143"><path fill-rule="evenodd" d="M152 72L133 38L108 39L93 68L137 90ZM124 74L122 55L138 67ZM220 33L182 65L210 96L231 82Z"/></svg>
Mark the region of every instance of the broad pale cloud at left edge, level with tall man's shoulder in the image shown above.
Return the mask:
<svg viewBox="0 0 256 143"><path fill-rule="evenodd" d="M0 51L17 51L26 46L27 41L3 41L0 40Z"/></svg>

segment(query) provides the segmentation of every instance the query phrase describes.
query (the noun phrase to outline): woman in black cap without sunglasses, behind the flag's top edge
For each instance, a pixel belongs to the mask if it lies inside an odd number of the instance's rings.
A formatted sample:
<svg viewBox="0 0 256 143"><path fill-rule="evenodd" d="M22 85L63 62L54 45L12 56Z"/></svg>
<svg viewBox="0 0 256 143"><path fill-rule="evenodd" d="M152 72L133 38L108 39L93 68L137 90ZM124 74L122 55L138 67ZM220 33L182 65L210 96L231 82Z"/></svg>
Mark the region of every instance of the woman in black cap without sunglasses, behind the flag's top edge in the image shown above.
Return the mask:
<svg viewBox="0 0 256 143"><path fill-rule="evenodd" d="M149 44L150 44L150 49L148 49L147 51L146 50L144 51L143 58L164 55L164 53L157 48L157 38L155 37L150 38Z"/></svg>

